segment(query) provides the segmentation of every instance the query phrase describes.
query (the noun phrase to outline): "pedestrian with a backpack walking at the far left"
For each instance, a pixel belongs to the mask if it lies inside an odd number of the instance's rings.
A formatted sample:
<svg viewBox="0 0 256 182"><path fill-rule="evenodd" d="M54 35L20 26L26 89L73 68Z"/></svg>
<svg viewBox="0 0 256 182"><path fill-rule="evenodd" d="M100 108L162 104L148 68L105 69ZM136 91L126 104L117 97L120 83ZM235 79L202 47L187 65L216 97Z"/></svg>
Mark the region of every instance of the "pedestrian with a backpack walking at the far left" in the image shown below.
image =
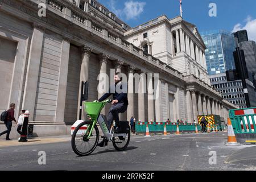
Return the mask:
<svg viewBox="0 0 256 182"><path fill-rule="evenodd" d="M5 121L5 126L7 128L6 131L3 131L2 133L0 133L0 136L6 134L6 140L11 140L9 138L10 136L10 133L11 133L11 127L13 126L13 121L15 123L18 123L16 122L16 119L14 118L14 109L15 109L15 104L10 104L10 109L7 110L7 118L6 118L6 121Z"/></svg>

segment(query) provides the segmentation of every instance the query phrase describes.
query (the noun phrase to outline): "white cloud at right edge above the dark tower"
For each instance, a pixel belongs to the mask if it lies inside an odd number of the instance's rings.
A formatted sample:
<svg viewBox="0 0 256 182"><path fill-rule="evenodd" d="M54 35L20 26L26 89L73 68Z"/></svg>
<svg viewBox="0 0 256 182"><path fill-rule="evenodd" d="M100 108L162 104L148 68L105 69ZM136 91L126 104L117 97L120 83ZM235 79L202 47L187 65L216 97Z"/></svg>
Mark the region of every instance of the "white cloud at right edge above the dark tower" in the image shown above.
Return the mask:
<svg viewBox="0 0 256 182"><path fill-rule="evenodd" d="M245 26L243 26L241 23L236 24L232 32L247 30L249 39L256 41L256 19L252 19L251 16L247 16L245 22Z"/></svg>

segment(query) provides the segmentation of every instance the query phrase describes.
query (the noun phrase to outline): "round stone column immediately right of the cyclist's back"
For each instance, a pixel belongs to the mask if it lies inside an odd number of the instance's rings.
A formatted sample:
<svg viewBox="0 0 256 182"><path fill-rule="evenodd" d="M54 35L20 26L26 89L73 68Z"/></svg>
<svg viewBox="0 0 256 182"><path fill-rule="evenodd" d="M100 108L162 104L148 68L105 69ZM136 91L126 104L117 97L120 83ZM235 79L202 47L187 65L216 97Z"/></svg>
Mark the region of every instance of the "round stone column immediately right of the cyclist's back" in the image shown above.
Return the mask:
<svg viewBox="0 0 256 182"><path fill-rule="evenodd" d="M128 107L127 107L127 121L130 121L131 116L134 117L134 82L133 74L135 71L133 65L130 65L128 68Z"/></svg>

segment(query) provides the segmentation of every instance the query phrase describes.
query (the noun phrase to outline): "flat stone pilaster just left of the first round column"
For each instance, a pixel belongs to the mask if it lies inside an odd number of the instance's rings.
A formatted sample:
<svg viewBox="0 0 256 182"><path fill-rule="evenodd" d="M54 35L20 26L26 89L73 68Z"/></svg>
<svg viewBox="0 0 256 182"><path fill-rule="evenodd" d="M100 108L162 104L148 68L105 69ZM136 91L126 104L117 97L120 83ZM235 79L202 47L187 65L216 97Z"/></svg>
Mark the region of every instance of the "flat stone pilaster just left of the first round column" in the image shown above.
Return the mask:
<svg viewBox="0 0 256 182"><path fill-rule="evenodd" d="M57 104L55 122L64 122L65 113L65 102L67 92L67 81L68 81L68 61L69 61L69 49L71 39L64 37L61 49L61 60L60 60L60 77L59 86L57 93Z"/></svg>

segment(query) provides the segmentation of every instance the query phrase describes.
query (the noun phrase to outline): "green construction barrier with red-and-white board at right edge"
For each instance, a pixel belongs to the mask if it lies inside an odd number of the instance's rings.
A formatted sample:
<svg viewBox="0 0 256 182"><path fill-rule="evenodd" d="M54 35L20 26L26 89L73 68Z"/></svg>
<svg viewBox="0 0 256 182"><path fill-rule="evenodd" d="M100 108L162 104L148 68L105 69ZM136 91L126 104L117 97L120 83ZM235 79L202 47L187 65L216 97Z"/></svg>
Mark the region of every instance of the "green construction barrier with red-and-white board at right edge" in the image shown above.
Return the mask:
<svg viewBox="0 0 256 182"><path fill-rule="evenodd" d="M229 110L229 118L241 144L256 144L256 107Z"/></svg>

